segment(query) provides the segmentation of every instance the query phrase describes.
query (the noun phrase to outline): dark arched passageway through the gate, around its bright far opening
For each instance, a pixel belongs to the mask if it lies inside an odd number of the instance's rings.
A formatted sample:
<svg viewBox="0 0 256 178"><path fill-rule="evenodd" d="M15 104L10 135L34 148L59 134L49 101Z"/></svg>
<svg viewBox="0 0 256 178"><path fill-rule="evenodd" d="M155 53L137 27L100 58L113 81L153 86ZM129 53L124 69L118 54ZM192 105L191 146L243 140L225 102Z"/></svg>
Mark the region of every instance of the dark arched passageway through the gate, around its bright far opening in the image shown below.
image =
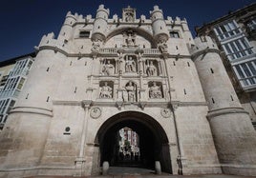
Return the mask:
<svg viewBox="0 0 256 178"><path fill-rule="evenodd" d="M139 135L139 158L122 161L118 153L118 132L129 128ZM154 168L155 161L160 161L162 171L172 173L168 138L160 124L151 116L125 111L109 118L97 132L96 142L100 148L100 165L108 161L111 167ZM127 164L129 163L129 164Z"/></svg>

